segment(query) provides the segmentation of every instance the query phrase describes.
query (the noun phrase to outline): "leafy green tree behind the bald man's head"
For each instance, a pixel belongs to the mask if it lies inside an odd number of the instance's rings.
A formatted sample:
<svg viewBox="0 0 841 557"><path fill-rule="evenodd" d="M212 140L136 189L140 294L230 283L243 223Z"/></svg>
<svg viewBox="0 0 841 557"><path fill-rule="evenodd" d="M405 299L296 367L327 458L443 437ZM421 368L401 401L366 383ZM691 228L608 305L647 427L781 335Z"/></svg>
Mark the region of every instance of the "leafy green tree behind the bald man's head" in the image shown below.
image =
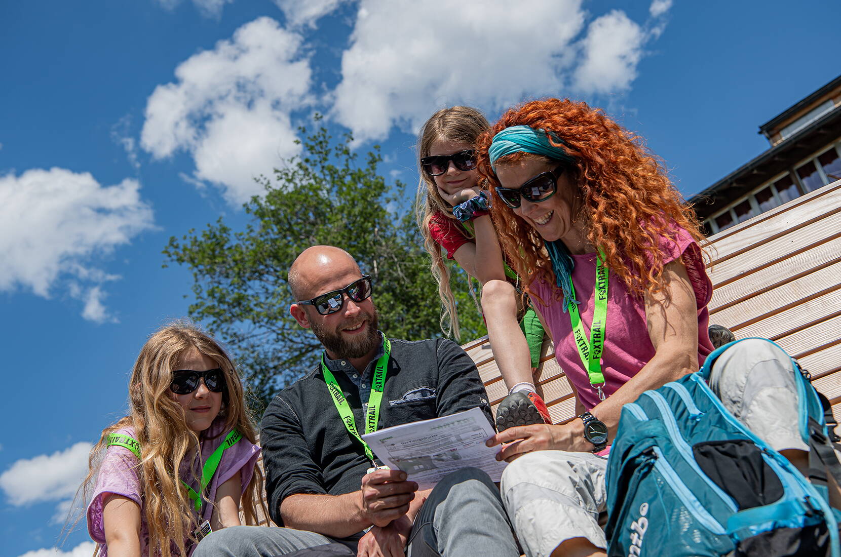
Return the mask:
<svg viewBox="0 0 841 557"><path fill-rule="evenodd" d="M389 185L378 175L378 146L360 164L350 134L334 141L324 127L309 136L300 131L306 136L302 155L275 170L274 183L259 180L266 192L243 205L250 218L245 229L234 231L219 218L182 239L172 237L163 251L169 262L193 271L191 318L229 346L262 403L320 356L318 340L288 313L288 269L310 245L339 246L372 276L386 334L442 334L441 304L405 184ZM452 287L464 340L484 334L466 281L455 267Z"/></svg>

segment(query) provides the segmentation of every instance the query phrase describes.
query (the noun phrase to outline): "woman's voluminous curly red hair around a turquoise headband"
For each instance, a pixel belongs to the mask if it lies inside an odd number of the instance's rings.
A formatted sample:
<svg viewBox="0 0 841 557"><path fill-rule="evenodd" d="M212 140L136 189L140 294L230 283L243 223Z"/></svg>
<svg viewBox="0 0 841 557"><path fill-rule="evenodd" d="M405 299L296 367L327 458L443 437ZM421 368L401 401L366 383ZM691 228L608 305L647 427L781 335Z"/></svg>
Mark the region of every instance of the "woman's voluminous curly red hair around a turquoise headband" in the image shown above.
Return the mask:
<svg viewBox="0 0 841 557"><path fill-rule="evenodd" d="M661 291L664 255L651 246L659 244L662 236L674 239L674 224L700 242L704 235L695 212L642 138L586 102L558 98L511 108L477 143L479 173L489 181L491 217L500 244L526 285L538 279L554 284L552 264L537 231L496 194L494 187L500 186L500 181L488 155L495 134L517 125L551 131L574 158L570 176L582 201L580 213L574 218L584 219L587 239L604 250L611 273L619 276L634 295ZM500 157L495 164L513 164L524 157L541 158L515 153Z"/></svg>

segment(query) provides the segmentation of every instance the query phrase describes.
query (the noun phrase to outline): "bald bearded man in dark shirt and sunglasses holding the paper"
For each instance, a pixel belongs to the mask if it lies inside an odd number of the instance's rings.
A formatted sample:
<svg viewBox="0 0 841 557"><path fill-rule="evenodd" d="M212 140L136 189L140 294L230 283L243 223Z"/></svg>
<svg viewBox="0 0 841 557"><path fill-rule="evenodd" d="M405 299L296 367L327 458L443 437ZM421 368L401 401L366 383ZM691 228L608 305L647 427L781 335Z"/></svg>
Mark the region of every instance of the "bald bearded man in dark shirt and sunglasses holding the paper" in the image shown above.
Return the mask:
<svg viewBox="0 0 841 557"><path fill-rule="evenodd" d="M195 555L520 555L499 489L483 471L458 470L435 489L417 491L403 471L372 470L382 463L352 432L365 430L372 391L382 391L381 402L373 402L378 428L473 407L493 425L473 360L447 339L387 340L370 278L345 250L304 250L288 282L298 300L290 313L324 352L262 419L269 512L283 528L225 528ZM334 400L342 398L350 426Z"/></svg>

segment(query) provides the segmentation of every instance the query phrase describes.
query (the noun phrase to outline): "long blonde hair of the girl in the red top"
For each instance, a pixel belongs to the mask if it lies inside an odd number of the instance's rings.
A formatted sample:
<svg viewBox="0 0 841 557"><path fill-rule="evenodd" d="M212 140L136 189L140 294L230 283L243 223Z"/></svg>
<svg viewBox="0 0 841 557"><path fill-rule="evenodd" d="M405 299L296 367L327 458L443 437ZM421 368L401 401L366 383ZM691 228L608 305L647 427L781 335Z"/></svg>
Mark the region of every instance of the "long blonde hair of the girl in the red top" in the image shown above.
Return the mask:
<svg viewBox="0 0 841 557"><path fill-rule="evenodd" d="M479 135L488 129L490 129L488 120L475 108L452 107L442 108L432 114L421 128L421 133L418 134L418 172L421 179L418 183L418 193L415 200L415 217L418 226L421 228L421 234L423 234L424 247L431 257L432 276L438 283L438 296L441 297L443 306L441 329L444 334L452 334L456 340L460 338L460 334L456 300L452 296L452 289L450 288L450 269L441 255L441 246L432 239L429 225L436 213L440 213L445 218L452 218L455 223L458 223L458 220L452 216L452 206L444 201L444 198L438 192L434 178L428 176L421 167L421 159L429 156L432 144L438 139L474 145L476 139L479 139ZM476 302L478 308L479 302L476 300L473 284L469 277L468 286L473 301ZM449 322L448 327L447 322Z"/></svg>

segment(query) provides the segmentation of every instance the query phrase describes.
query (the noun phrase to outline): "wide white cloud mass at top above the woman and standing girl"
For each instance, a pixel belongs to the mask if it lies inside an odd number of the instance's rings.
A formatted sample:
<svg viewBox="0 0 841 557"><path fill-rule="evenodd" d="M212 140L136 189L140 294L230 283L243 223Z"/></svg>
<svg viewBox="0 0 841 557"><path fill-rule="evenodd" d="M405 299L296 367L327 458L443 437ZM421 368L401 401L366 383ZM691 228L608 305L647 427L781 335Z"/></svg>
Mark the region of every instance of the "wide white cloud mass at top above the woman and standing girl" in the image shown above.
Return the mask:
<svg viewBox="0 0 841 557"><path fill-rule="evenodd" d="M491 112L626 90L650 35L620 11L587 18L581 0L361 0L331 116L357 140L383 139L457 103Z"/></svg>

